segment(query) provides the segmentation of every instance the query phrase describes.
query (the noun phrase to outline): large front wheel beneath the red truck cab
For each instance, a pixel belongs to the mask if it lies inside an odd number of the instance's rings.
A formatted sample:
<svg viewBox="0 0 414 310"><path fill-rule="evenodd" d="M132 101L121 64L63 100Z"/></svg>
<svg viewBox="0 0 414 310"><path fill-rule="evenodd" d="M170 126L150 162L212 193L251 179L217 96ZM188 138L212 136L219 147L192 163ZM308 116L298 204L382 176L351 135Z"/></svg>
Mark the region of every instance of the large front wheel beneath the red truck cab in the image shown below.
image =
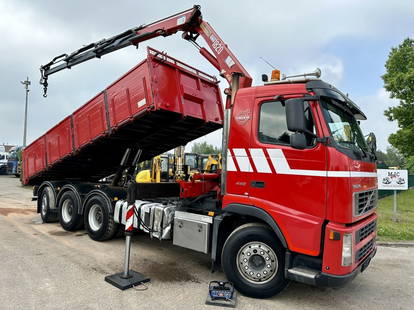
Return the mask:
<svg viewBox="0 0 414 310"><path fill-rule="evenodd" d="M289 283L285 279L285 251L265 225L249 223L227 238L222 251L224 273L243 295L268 298Z"/></svg>

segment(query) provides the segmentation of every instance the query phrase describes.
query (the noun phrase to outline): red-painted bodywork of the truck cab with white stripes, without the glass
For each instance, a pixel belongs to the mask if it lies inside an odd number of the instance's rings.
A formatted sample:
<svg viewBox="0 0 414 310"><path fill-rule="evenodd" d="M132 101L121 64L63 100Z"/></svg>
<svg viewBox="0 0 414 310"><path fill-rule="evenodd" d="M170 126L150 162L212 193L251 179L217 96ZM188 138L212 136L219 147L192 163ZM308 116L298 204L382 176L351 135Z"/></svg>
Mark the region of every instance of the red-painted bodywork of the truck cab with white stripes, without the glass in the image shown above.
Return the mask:
<svg viewBox="0 0 414 310"><path fill-rule="evenodd" d="M375 208L355 215L358 199L376 192L374 162L352 160L332 146L295 149L259 139L260 107L286 98L312 96L306 83L240 89L231 116L223 208L256 206L277 223L290 251L322 258L322 272L346 275L375 250ZM316 134L331 135L318 101L309 101ZM362 197L362 198L361 198ZM362 200L364 202L364 200ZM363 238L359 232L363 230ZM340 240L329 239L338 232ZM341 265L342 240L352 234L353 259Z"/></svg>

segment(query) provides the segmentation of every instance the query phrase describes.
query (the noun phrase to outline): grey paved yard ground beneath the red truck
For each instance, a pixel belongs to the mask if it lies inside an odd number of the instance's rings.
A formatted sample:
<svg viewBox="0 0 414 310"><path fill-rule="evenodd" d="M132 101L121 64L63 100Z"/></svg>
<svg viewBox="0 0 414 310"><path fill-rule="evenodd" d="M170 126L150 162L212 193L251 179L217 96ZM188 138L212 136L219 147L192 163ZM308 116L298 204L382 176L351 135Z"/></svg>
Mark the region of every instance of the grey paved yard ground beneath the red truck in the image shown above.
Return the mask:
<svg viewBox="0 0 414 310"><path fill-rule="evenodd" d="M104 277L121 271L123 239L94 242L84 231L41 224L31 190L0 176L1 309L215 309L205 306L204 255L134 236L132 269L152 278L145 291L120 291ZM267 300L239 296L238 309L413 309L414 248L380 247L371 266L339 289L292 283ZM218 309L218 308L217 308Z"/></svg>

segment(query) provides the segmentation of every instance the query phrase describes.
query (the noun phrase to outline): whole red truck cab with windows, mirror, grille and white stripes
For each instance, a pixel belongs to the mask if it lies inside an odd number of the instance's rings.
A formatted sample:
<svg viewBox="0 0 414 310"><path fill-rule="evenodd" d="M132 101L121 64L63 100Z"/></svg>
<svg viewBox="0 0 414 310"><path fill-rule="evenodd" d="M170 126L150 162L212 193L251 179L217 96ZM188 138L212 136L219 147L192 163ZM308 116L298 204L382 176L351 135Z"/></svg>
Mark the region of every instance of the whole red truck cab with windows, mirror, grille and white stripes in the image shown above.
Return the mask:
<svg viewBox="0 0 414 310"><path fill-rule="evenodd" d="M237 93L223 207L272 217L288 249L287 278L341 284L375 254L375 155L358 119L365 119L358 106L321 80ZM240 274L260 283L271 271L246 265Z"/></svg>

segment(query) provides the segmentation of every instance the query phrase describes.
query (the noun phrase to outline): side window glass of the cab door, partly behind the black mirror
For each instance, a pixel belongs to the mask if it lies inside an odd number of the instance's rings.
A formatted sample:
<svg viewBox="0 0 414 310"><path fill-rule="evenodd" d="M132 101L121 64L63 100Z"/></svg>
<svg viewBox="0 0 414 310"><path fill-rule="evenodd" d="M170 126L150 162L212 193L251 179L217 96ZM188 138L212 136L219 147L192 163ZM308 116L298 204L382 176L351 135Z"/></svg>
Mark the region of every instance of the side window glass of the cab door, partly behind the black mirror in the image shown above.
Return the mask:
<svg viewBox="0 0 414 310"><path fill-rule="evenodd" d="M305 119L308 130L316 134L310 106L305 102ZM268 101L260 106L259 141L269 144L290 144L293 132L287 129L285 105L281 101ZM315 139L307 135L307 144L312 146Z"/></svg>

